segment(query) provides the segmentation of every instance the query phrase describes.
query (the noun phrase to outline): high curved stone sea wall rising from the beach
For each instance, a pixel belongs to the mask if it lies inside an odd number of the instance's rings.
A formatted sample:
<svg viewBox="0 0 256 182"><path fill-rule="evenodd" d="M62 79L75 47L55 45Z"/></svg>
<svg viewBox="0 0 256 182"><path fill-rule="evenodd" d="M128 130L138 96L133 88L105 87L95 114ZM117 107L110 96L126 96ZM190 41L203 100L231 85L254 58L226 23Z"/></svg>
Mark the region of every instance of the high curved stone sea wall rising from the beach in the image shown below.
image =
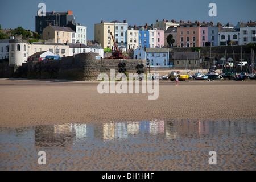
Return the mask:
<svg viewBox="0 0 256 182"><path fill-rule="evenodd" d="M115 76L121 72L126 74L136 73L138 70L147 72L144 60L96 59L96 56L98 53L81 53L63 57L61 60L31 61L23 63L10 77L96 81L100 73L106 73L110 77L110 69L115 70ZM137 65L141 64L143 68L138 68Z"/></svg>

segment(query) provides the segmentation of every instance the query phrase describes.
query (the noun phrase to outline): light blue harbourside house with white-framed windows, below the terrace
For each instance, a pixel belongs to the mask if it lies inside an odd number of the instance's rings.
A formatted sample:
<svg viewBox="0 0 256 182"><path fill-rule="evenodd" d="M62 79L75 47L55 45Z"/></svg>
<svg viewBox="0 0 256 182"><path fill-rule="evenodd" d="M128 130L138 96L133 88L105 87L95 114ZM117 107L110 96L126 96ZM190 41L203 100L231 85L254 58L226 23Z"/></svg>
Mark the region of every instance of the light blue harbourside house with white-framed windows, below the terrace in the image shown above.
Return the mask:
<svg viewBox="0 0 256 182"><path fill-rule="evenodd" d="M169 61L168 48L137 48L134 51L134 59L144 59L150 67L173 67Z"/></svg>

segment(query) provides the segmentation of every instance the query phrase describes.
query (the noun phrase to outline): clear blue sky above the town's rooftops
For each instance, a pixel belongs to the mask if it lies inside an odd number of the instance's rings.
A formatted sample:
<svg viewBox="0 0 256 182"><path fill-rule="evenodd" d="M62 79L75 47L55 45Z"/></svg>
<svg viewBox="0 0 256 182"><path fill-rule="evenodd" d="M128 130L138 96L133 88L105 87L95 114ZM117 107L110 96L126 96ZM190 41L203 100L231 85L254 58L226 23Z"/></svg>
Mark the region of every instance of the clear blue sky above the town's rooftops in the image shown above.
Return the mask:
<svg viewBox="0 0 256 182"><path fill-rule="evenodd" d="M234 24L256 21L256 0L0 0L0 24L4 28L22 26L35 31L35 16L39 3L46 11L73 11L76 23L87 27L87 40L94 39L94 24L126 20L128 25L155 24L156 20L179 22L217 22ZM210 3L217 6L217 16L209 16Z"/></svg>

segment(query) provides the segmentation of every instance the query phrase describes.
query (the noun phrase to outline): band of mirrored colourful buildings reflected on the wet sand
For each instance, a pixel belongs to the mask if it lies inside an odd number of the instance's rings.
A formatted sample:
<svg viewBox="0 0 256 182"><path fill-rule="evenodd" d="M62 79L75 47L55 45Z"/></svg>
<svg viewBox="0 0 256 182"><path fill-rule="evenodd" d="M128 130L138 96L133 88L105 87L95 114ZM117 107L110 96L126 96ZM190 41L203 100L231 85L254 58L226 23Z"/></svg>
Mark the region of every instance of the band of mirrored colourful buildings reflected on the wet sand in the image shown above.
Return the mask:
<svg viewBox="0 0 256 182"><path fill-rule="evenodd" d="M168 140L240 134L255 135L255 122L154 120L111 122L103 123L102 126L67 123L35 126L35 146L70 148L75 140L96 138L105 141L144 137Z"/></svg>

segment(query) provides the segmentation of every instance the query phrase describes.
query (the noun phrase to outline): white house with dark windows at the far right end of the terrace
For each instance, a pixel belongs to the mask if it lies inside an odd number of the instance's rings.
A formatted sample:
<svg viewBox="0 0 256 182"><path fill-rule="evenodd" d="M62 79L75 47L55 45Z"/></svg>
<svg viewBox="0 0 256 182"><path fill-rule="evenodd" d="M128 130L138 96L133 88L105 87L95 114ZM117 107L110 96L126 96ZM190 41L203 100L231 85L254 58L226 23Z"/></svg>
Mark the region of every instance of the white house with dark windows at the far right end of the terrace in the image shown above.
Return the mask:
<svg viewBox="0 0 256 182"><path fill-rule="evenodd" d="M241 24L240 38L240 45L256 43L256 22Z"/></svg>

